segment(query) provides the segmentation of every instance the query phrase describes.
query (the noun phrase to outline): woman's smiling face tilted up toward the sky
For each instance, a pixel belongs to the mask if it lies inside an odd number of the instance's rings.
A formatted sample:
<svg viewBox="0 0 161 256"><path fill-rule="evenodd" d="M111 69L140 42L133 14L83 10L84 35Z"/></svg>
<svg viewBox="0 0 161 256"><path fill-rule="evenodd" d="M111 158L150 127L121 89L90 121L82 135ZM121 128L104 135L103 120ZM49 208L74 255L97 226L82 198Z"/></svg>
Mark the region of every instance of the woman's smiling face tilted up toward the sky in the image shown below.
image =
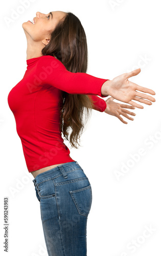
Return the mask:
<svg viewBox="0 0 161 256"><path fill-rule="evenodd" d="M66 16L66 12L54 11L48 14L36 12L34 22L29 20L22 24L25 34L30 36L34 41L44 41L45 38L50 38L51 32L55 29L59 20Z"/></svg>

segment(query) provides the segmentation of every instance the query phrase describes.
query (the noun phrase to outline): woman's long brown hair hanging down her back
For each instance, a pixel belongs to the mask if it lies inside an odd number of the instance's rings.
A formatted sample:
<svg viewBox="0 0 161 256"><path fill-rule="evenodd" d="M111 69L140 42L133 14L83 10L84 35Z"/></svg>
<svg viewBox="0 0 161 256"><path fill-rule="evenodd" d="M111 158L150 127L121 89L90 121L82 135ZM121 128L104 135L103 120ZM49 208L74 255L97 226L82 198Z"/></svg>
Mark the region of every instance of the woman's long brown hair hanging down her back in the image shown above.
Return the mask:
<svg viewBox="0 0 161 256"><path fill-rule="evenodd" d="M85 31L78 17L67 12L60 20L47 46L42 49L42 55L51 55L59 59L65 68L70 72L83 72L87 70L87 41ZM83 132L87 118L93 109L94 101L84 94L61 93L60 102L60 129L64 138L69 141L72 147L78 148L78 139ZM84 113L85 111L85 113ZM84 114L84 121L83 121Z"/></svg>

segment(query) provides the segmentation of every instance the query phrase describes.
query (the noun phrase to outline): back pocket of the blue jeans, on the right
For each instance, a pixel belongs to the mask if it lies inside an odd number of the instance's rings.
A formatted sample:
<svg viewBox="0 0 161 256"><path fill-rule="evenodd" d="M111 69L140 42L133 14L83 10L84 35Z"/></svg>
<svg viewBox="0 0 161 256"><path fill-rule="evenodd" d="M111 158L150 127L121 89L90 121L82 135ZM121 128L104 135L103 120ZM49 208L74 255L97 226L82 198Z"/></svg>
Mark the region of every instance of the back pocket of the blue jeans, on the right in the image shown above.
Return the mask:
<svg viewBox="0 0 161 256"><path fill-rule="evenodd" d="M88 217L92 202L91 185L70 191L70 194L79 214Z"/></svg>

